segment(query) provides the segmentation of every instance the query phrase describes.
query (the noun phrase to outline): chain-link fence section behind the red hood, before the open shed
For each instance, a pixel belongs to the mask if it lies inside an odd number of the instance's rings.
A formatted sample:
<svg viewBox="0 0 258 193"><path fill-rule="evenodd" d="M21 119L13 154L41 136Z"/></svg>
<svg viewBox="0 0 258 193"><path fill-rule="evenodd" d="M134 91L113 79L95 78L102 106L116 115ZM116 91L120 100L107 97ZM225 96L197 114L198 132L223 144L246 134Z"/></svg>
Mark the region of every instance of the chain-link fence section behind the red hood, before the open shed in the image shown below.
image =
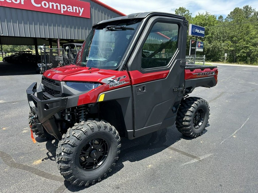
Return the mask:
<svg viewBox="0 0 258 193"><path fill-rule="evenodd" d="M44 72L51 68L62 66L62 63L60 63L60 61L56 61L56 56L62 57L63 52L64 49L61 48L41 48L41 72Z"/></svg>

